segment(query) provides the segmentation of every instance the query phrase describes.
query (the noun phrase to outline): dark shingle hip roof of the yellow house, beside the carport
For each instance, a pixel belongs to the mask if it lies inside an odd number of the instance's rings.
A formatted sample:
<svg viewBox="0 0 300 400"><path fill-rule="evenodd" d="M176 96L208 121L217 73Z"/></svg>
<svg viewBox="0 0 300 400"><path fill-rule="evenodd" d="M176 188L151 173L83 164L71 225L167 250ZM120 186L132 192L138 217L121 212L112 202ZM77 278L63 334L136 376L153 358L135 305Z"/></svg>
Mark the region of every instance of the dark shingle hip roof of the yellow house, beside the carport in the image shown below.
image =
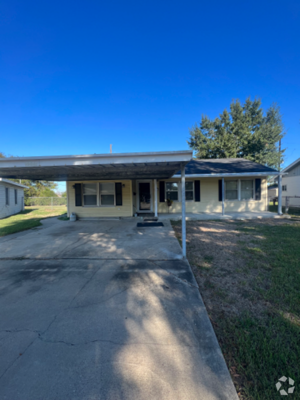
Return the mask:
<svg viewBox="0 0 300 400"><path fill-rule="evenodd" d="M193 159L185 165L185 174L277 172L276 169L249 161L245 158ZM180 171L176 173L180 175Z"/></svg>

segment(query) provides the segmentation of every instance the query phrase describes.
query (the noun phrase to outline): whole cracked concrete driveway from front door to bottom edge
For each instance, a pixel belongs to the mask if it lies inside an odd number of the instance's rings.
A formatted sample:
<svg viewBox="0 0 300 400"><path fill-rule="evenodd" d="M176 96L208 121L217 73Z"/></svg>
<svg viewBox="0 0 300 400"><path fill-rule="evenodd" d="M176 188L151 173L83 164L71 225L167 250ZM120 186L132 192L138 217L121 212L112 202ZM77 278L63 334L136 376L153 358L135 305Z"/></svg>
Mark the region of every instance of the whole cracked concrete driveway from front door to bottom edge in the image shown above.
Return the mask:
<svg viewBox="0 0 300 400"><path fill-rule="evenodd" d="M51 219L6 236L0 290L1 399L237 399L167 223Z"/></svg>

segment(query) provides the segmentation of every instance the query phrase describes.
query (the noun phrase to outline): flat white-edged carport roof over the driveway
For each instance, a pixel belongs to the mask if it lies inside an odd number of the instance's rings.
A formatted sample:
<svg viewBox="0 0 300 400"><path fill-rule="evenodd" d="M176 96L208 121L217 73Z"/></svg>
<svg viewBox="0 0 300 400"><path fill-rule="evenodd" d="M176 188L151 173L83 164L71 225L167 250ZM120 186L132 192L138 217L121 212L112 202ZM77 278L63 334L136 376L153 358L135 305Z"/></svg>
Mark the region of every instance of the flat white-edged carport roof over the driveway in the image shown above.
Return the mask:
<svg viewBox="0 0 300 400"><path fill-rule="evenodd" d="M3 178L36 180L166 179L191 150L0 158Z"/></svg>

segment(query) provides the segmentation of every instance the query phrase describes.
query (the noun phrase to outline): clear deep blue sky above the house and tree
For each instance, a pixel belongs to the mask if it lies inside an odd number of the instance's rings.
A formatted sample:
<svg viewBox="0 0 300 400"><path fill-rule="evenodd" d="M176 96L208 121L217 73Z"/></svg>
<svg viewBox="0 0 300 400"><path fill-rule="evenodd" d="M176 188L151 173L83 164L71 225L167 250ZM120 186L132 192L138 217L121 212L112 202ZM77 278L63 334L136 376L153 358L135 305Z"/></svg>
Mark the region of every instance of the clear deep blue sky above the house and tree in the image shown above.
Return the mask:
<svg viewBox="0 0 300 400"><path fill-rule="evenodd" d="M277 101L300 157L300 1L6 1L0 151L187 148L232 98Z"/></svg>

